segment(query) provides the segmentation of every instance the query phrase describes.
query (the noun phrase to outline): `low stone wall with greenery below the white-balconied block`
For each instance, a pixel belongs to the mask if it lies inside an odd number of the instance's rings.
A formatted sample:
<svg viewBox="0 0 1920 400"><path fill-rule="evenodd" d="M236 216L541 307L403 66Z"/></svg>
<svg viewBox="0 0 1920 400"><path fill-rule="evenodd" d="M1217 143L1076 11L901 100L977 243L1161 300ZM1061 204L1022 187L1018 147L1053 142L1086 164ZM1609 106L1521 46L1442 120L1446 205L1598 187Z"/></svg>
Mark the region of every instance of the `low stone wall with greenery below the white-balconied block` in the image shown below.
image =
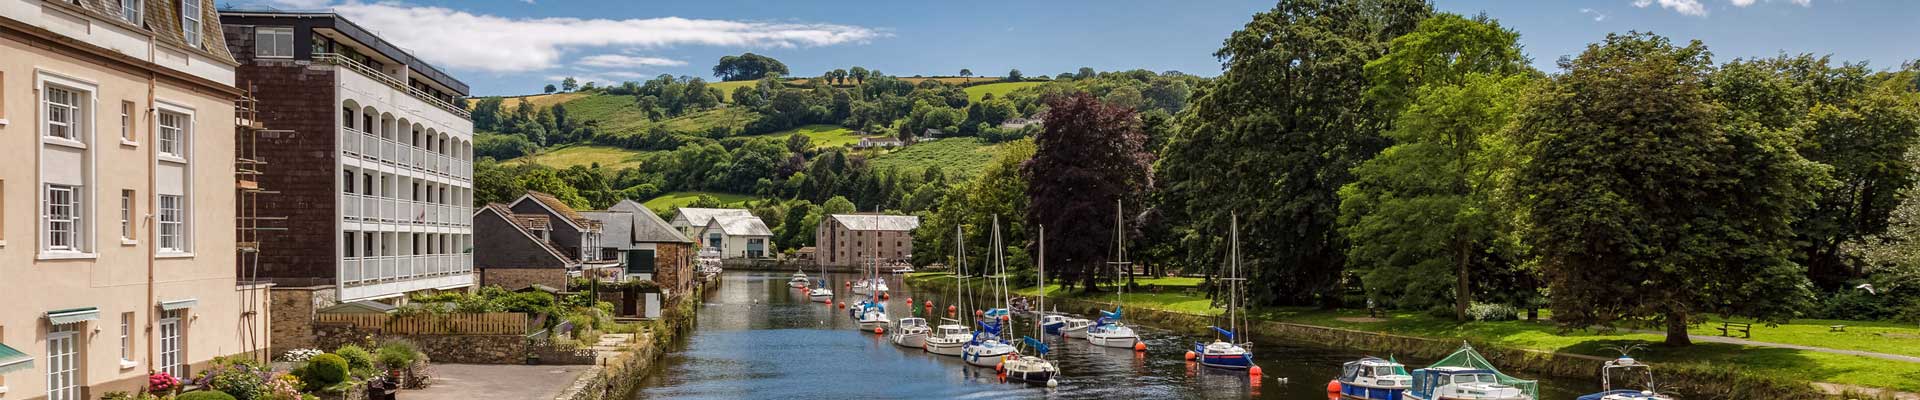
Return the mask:
<svg viewBox="0 0 1920 400"><path fill-rule="evenodd" d="M528 350L526 337L520 335L386 335L351 323L315 323L313 333L315 348L321 350L405 338L434 363L524 363Z"/></svg>

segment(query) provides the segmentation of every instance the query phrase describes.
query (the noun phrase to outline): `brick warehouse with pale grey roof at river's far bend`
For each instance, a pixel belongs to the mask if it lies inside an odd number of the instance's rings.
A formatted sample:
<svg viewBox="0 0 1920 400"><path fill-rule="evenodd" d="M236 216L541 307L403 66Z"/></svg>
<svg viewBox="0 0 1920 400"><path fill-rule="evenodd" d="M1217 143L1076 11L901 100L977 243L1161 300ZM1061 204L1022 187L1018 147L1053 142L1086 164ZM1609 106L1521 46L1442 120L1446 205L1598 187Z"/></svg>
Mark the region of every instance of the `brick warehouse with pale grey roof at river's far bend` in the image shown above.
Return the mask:
<svg viewBox="0 0 1920 400"><path fill-rule="evenodd" d="M814 231L814 260L820 265L860 265L906 262L914 258L914 229L920 217L883 213L833 213Z"/></svg>

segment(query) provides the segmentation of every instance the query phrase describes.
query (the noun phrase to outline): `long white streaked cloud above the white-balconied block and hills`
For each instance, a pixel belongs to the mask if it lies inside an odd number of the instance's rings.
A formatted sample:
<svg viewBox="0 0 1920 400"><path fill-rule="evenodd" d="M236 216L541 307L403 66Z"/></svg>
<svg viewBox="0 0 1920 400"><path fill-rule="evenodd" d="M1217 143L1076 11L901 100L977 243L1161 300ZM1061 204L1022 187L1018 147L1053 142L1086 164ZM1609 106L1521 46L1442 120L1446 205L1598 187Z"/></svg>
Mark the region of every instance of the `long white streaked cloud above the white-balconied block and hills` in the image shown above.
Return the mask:
<svg viewBox="0 0 1920 400"><path fill-rule="evenodd" d="M415 56L426 58L432 63L455 69L497 73L549 69L561 63L566 50L578 48L799 48L856 44L887 37L887 33L877 29L833 23L770 23L685 17L499 17L396 2L348 2L334 6L334 12L376 31L382 38L407 48Z"/></svg>

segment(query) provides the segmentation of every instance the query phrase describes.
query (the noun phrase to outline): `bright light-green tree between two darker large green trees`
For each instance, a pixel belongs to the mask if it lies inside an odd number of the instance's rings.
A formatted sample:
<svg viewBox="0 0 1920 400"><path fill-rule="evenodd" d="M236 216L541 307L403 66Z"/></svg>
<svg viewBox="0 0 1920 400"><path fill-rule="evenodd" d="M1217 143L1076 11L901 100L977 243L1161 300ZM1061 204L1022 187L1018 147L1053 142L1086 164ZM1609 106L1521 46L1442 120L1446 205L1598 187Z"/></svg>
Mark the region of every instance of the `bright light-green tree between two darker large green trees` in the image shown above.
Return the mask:
<svg viewBox="0 0 1920 400"><path fill-rule="evenodd" d="M1369 96L1404 108L1386 131L1396 144L1356 167L1354 183L1340 188L1352 242L1346 263L1369 294L1398 306L1440 306L1444 277L1453 277L1453 317L1467 321L1469 275L1519 263L1501 240L1511 219L1496 204L1513 167L1513 144L1498 131L1528 83L1519 38L1484 17L1440 13L1367 63Z"/></svg>

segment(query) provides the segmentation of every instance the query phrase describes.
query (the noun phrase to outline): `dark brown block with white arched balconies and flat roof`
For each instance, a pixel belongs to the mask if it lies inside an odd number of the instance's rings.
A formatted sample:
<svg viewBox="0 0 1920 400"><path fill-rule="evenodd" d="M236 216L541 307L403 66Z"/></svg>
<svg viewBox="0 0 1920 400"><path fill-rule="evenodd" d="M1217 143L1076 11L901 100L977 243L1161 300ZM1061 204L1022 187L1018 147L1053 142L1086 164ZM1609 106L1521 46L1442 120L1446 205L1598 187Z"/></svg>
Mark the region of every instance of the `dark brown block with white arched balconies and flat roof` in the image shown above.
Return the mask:
<svg viewBox="0 0 1920 400"><path fill-rule="evenodd" d="M259 275L328 302L474 285L467 85L336 13L221 12L263 135ZM301 317L301 315L282 315ZM276 321L278 323L278 321Z"/></svg>

